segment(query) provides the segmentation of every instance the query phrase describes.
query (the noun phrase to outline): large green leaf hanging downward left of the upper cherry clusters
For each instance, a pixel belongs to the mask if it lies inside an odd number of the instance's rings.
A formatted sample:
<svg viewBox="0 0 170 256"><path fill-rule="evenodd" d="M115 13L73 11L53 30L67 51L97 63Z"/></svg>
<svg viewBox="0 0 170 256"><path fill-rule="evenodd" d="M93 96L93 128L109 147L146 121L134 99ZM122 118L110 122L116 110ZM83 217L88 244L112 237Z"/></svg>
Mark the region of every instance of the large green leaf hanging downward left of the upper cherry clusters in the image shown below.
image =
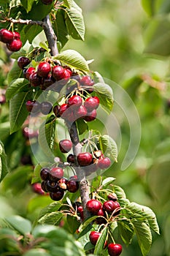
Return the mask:
<svg viewBox="0 0 170 256"><path fill-rule="evenodd" d="M28 110L26 110L26 101L32 98L32 92L19 92L15 97L9 101L9 121L10 132L16 132L20 129L23 122L28 116Z"/></svg>

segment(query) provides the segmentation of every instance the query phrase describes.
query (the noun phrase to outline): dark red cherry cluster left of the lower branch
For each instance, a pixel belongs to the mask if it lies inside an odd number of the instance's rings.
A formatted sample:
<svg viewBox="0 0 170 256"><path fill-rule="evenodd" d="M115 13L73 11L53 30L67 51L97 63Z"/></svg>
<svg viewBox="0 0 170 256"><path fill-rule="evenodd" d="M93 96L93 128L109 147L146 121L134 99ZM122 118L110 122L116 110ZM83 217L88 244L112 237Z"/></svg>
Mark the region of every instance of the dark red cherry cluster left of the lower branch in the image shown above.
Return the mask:
<svg viewBox="0 0 170 256"><path fill-rule="evenodd" d="M58 201L63 198L64 191L77 192L79 184L77 176L68 179L63 177L63 168L61 167L44 167L40 172L42 178L42 190L49 192L52 200Z"/></svg>

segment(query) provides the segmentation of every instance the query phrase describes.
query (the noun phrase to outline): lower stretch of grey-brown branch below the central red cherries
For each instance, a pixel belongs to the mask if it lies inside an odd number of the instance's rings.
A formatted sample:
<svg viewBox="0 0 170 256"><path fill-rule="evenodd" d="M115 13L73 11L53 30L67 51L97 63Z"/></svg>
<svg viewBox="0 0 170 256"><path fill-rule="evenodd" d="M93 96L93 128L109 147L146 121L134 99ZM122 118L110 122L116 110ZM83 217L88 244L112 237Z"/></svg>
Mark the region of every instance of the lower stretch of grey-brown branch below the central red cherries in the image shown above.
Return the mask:
<svg viewBox="0 0 170 256"><path fill-rule="evenodd" d="M77 162L77 155L82 152L82 144L80 143L80 140L79 140L76 123L74 122L71 126L67 124L67 127L69 129L69 135L73 144L73 153L76 156L77 167L75 167L75 171L76 171L77 178L79 181L79 186L80 186L80 196L82 200L83 215L84 215L84 218L87 219L88 217L90 217L90 213L86 208L86 203L88 202L88 200L90 200L89 186L88 186L88 181L85 178L84 170L82 167L78 165L78 162Z"/></svg>

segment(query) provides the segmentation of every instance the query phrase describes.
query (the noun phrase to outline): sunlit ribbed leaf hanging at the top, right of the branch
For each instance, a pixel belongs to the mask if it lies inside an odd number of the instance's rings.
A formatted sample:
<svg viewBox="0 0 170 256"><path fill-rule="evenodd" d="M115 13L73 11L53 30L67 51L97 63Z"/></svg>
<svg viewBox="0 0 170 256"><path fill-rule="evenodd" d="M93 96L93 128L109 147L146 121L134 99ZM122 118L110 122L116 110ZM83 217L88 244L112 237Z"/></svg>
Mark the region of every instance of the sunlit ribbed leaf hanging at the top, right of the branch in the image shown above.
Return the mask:
<svg viewBox="0 0 170 256"><path fill-rule="evenodd" d="M74 39L85 39L85 23L82 16L82 10L72 1L70 9L66 8L66 26L69 34Z"/></svg>

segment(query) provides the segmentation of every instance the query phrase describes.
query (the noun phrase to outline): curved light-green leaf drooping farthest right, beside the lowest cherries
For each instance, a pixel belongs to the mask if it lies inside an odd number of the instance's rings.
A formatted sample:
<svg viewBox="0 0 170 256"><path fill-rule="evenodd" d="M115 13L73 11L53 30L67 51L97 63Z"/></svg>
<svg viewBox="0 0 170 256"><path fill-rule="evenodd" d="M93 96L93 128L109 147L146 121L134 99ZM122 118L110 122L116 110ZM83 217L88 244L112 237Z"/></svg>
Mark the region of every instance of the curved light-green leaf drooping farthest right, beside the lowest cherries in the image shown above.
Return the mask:
<svg viewBox="0 0 170 256"><path fill-rule="evenodd" d="M130 203L128 205L128 210L130 210L133 214L139 214L142 217L146 218L150 225L150 228L152 228L152 230L155 231L155 233L159 234L159 227L156 216L149 207L141 206L138 203Z"/></svg>

